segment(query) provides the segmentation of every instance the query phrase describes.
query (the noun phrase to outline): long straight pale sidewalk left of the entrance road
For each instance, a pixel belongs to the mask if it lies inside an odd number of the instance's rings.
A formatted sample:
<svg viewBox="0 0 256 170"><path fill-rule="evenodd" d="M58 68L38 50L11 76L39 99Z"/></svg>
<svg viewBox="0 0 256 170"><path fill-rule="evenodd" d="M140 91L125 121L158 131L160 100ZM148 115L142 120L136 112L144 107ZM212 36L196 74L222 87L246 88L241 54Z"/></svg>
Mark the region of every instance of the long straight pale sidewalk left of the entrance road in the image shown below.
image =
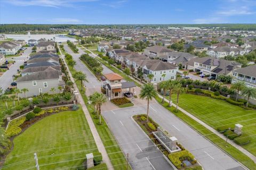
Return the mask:
<svg viewBox="0 0 256 170"><path fill-rule="evenodd" d="M72 75L71 75L71 73L69 71L68 65L67 65L67 63L66 63L66 61L64 59L64 55L62 55L61 51L60 51L60 54L61 54L61 58L63 58L63 60L64 60L65 65L67 66L67 70L68 70L68 74L70 76L70 79L71 79L72 82L74 82L75 90L79 91L77 86L76 86L75 80L74 80L74 78L72 77ZM100 139L100 135L99 135L99 133L98 133L98 131L97 131L93 121L92 121L92 117L91 117L91 115L90 115L90 113L89 113L89 111L88 111L88 109L87 109L87 107L86 107L86 105L84 103L82 95L80 93L78 95L78 98L79 98L79 103L82 106L82 109L84 111L84 115L86 117L86 120L87 120L87 122L89 124L89 127L91 129L94 141L95 141L95 143L97 145L97 148L98 148L99 152L101 152L101 154L102 154L102 160L103 160L104 163L106 163L106 165L107 165L109 170L114 170L113 165L111 164L111 161L110 161L110 159L108 157L107 151L106 151L106 149L105 149L105 147L104 147L104 145L103 145L103 143L102 143L102 141Z"/></svg>

